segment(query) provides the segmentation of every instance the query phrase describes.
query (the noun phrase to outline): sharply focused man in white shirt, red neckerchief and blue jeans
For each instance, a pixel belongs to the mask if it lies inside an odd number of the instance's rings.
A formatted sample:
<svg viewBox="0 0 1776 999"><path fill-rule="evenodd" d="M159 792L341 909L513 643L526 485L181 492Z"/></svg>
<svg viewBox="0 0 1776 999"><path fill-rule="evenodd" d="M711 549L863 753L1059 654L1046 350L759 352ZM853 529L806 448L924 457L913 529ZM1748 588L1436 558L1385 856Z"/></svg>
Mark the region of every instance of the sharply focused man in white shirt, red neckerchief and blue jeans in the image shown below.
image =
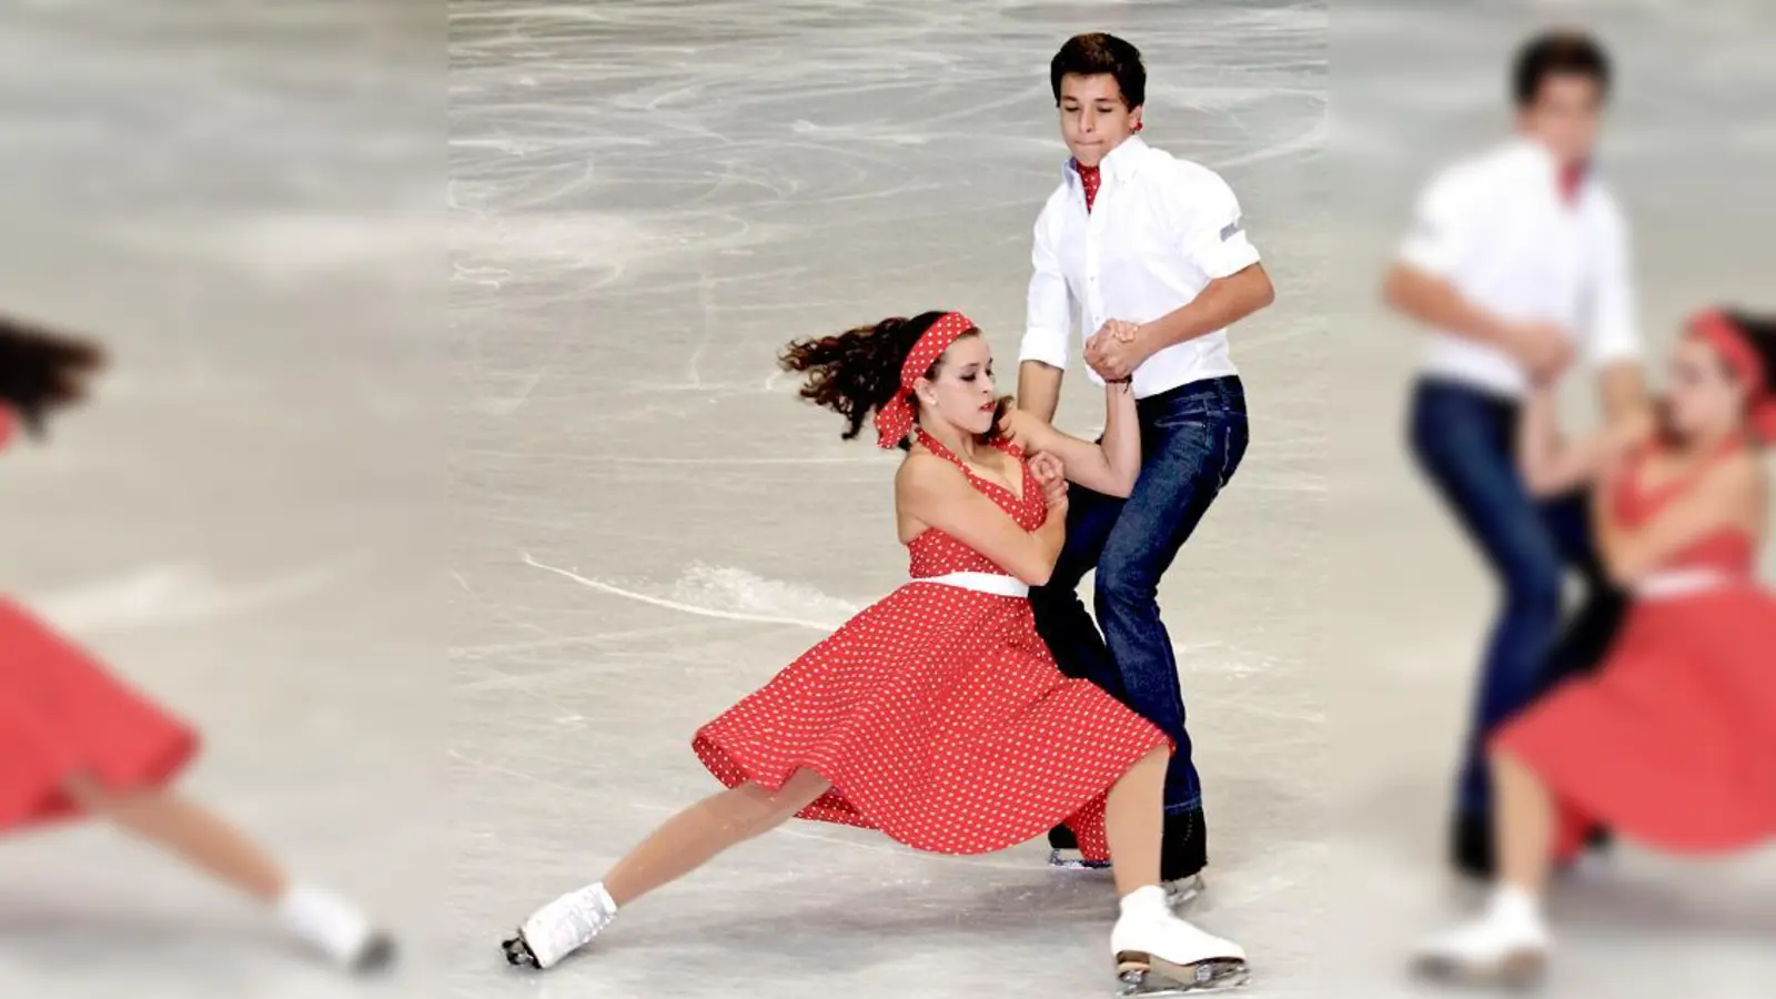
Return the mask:
<svg viewBox="0 0 1776 999"><path fill-rule="evenodd" d="M1098 683L1176 741L1162 876L1186 896L1201 887L1208 830L1158 587L1245 455L1245 391L1227 327L1275 292L1227 183L1137 135L1147 71L1133 44L1073 37L1048 75L1073 156L1035 220L1018 407L1053 418L1078 325L1094 382L1133 379L1144 464L1128 500L1073 487L1066 547L1030 603L1064 672ZM1096 626L1076 592L1092 569ZM1050 844L1062 866L1078 846L1066 830Z"/></svg>

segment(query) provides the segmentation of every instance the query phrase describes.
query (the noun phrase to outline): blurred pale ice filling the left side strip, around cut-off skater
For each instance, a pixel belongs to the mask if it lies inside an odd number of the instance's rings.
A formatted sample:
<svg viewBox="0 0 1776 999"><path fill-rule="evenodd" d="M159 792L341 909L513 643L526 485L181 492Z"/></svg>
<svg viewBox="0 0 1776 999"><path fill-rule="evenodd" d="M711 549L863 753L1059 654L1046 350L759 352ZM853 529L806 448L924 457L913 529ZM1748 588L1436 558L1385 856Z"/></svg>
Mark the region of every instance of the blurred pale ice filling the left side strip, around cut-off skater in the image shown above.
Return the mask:
<svg viewBox="0 0 1776 999"><path fill-rule="evenodd" d="M424 30L345 4L0 7L0 308L112 354L50 448L0 457L0 588L202 731L192 795L437 967L442 361L416 300L444 270L439 73L419 60L442 32ZM108 828L0 843L0 995L357 994ZM362 994L440 987L408 971Z"/></svg>

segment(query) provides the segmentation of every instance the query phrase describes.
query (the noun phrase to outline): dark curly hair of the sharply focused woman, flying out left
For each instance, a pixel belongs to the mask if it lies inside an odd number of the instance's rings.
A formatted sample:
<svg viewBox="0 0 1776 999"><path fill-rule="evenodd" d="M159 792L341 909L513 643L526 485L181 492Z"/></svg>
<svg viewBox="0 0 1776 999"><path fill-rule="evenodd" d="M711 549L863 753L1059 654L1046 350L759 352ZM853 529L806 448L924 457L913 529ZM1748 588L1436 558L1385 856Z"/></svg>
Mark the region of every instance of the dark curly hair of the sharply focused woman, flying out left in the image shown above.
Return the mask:
<svg viewBox="0 0 1776 999"><path fill-rule="evenodd" d="M847 427L840 437L852 441L863 432L865 421L900 391L900 366L906 364L918 338L945 315L948 313L936 309L913 318L892 316L836 336L797 340L783 348L778 364L785 372L805 375L797 395L844 416ZM980 336L980 331L970 329L963 336ZM936 379L941 370L943 357L938 357L925 377ZM916 412L918 398L911 402ZM1011 396L998 400L993 425L982 441L998 436L998 418L1005 414ZM900 441L900 450L911 446L909 439Z"/></svg>

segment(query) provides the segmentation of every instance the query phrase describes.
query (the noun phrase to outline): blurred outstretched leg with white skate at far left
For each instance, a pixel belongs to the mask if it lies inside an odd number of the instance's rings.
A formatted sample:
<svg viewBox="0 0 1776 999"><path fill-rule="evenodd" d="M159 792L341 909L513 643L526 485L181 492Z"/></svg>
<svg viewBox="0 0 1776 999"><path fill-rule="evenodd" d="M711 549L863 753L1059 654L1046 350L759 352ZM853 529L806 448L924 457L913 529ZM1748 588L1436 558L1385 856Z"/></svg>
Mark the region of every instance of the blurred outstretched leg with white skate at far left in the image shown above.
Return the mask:
<svg viewBox="0 0 1776 999"><path fill-rule="evenodd" d="M316 887L293 883L259 844L215 812L170 791L114 793L82 775L62 789L89 814L167 850L272 908L297 937L336 963L371 971L394 956L392 940L355 907Z"/></svg>

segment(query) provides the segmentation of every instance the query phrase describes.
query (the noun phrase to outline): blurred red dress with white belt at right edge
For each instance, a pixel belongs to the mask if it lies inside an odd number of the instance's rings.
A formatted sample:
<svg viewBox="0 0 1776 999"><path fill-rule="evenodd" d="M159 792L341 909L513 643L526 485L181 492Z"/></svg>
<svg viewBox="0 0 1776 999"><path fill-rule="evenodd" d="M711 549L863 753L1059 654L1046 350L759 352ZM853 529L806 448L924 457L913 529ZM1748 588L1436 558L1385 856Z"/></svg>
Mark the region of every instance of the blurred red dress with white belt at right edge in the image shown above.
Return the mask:
<svg viewBox="0 0 1776 999"><path fill-rule="evenodd" d="M1645 457L1611 498L1629 528L1700 476L1645 489ZM1561 855L1595 825L1680 853L1776 835L1776 595L1756 585L1755 560L1740 530L1671 558L1604 665L1495 736L1559 802Z"/></svg>

